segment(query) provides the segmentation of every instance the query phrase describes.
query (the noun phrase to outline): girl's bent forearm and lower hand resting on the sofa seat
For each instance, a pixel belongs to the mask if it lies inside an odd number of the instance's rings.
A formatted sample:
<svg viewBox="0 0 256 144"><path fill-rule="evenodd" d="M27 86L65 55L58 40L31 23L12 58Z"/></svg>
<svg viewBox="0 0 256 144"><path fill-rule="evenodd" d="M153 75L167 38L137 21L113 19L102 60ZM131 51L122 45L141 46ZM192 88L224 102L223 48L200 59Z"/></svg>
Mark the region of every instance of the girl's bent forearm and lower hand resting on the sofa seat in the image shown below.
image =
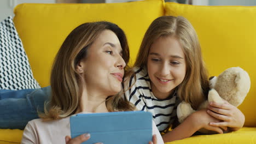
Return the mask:
<svg viewBox="0 0 256 144"><path fill-rule="evenodd" d="M194 112L192 115L187 117L181 124L179 124L178 127L173 129L172 131L168 131L168 133L162 136L164 142L185 139L193 135L197 130L201 128L217 131L217 133L222 134L222 129L209 125L210 122L220 122L220 120L208 115L206 111L206 109L203 109Z"/></svg>

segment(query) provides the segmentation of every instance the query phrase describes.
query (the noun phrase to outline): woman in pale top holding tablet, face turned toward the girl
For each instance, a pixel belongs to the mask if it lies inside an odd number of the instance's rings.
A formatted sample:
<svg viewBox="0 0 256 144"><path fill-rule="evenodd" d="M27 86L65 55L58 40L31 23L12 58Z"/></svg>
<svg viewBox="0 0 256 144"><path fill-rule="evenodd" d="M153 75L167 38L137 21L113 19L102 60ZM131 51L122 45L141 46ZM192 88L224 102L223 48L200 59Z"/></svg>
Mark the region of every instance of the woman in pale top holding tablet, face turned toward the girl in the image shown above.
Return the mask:
<svg viewBox="0 0 256 144"><path fill-rule="evenodd" d="M91 22L75 28L63 42L53 64L50 105L39 119L28 122L21 143L82 143L90 134L71 139L70 116L81 112L134 110L118 94L128 61L127 40L117 25ZM154 124L153 134L150 143L163 143Z"/></svg>

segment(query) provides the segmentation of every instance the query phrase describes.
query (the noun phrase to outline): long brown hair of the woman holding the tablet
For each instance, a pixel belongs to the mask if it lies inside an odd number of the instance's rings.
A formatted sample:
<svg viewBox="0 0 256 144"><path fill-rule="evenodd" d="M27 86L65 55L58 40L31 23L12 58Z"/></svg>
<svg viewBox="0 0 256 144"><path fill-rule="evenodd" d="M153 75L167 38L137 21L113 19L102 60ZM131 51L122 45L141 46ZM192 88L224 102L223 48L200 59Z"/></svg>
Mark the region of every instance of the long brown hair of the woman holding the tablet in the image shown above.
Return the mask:
<svg viewBox="0 0 256 144"><path fill-rule="evenodd" d="M51 70L51 100L45 104L40 118L45 120L60 119L71 116L79 106L82 95L82 79L77 73L79 61L89 55L90 46L104 30L114 32L123 49L123 59L127 65L130 59L129 47L124 31L114 23L100 21L88 22L75 28L63 42L55 57ZM127 68L127 67L126 67ZM131 111L134 106L120 97L120 94L106 99L108 111Z"/></svg>

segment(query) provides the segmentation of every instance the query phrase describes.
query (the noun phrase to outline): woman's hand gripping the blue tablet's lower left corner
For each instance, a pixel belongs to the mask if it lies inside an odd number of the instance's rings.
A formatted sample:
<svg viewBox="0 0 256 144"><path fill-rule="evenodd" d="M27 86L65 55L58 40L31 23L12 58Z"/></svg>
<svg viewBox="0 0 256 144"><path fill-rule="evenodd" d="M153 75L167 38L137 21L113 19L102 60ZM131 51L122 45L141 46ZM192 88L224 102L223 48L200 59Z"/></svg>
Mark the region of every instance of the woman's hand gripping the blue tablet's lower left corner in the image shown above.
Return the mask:
<svg viewBox="0 0 256 144"><path fill-rule="evenodd" d="M79 136L75 137L74 139L71 139L71 136L66 136L65 141L66 141L66 144L80 144L84 141L89 140L90 137L91 137L90 134L79 135ZM95 144L103 144L103 143L95 143Z"/></svg>

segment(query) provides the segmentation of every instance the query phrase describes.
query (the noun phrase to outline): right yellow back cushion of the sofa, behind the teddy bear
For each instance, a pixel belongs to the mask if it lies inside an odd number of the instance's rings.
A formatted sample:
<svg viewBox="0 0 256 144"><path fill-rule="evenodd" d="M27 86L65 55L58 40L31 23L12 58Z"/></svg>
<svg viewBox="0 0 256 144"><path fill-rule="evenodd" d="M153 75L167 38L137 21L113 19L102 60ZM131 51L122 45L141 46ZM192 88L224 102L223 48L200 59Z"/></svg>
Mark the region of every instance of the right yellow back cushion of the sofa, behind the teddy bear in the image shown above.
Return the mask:
<svg viewBox="0 0 256 144"><path fill-rule="evenodd" d="M196 6L168 2L166 15L184 16L196 29L210 75L241 67L251 77L251 89L238 108L246 127L256 127L256 7Z"/></svg>

